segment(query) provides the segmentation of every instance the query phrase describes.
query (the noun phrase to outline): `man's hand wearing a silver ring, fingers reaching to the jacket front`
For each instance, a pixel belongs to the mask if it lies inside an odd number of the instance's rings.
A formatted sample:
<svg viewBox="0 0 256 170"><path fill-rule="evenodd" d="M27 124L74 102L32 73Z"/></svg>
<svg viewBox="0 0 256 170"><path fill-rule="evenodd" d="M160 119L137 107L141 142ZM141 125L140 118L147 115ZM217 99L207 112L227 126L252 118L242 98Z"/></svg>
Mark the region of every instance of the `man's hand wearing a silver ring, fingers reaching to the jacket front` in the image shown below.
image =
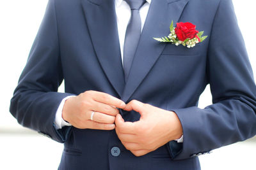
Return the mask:
<svg viewBox="0 0 256 170"><path fill-rule="evenodd" d="M79 129L115 129L116 108L125 108L124 101L109 94L86 91L65 101L62 118ZM93 120L91 120L92 112Z"/></svg>

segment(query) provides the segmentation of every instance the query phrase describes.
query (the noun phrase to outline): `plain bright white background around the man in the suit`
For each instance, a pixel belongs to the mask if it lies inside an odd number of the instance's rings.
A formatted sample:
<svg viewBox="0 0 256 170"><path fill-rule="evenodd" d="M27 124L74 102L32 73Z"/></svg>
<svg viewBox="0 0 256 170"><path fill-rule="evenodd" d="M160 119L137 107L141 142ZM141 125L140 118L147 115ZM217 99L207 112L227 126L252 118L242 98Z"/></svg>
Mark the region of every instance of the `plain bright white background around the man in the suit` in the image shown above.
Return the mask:
<svg viewBox="0 0 256 170"><path fill-rule="evenodd" d="M255 1L234 0L233 3L256 74ZM0 0L0 169L56 169L60 162L61 144L20 127L9 113L13 90L26 64L46 4L47 0ZM204 108L209 104L211 94L207 87L199 106ZM201 156L200 161L203 170L256 169L253 153L256 153L255 139L214 150Z"/></svg>

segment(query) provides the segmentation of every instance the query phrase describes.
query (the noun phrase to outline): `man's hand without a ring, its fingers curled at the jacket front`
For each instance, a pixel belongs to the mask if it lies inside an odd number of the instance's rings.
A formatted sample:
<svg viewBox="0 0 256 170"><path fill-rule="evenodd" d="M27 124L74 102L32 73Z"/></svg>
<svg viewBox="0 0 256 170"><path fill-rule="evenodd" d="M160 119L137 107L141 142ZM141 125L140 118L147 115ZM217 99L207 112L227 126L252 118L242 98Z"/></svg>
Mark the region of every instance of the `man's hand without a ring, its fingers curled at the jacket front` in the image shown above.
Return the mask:
<svg viewBox="0 0 256 170"><path fill-rule="evenodd" d="M118 138L137 157L182 136L182 125L173 111L136 100L128 103L124 110L134 110L141 115L137 122L124 122L120 114L115 120Z"/></svg>

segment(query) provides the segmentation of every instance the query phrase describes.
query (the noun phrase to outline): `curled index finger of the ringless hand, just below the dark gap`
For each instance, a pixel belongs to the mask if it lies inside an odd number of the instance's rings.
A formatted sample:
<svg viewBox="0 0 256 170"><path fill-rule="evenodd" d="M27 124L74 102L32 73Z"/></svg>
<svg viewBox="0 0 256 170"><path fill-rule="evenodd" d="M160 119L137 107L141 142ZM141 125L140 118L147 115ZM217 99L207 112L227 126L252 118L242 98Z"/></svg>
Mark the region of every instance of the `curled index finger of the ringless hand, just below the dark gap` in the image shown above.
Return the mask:
<svg viewBox="0 0 256 170"><path fill-rule="evenodd" d="M134 123L124 122L124 119L120 114L116 115L115 124L116 124L116 129L118 129L118 132L123 134L135 134Z"/></svg>

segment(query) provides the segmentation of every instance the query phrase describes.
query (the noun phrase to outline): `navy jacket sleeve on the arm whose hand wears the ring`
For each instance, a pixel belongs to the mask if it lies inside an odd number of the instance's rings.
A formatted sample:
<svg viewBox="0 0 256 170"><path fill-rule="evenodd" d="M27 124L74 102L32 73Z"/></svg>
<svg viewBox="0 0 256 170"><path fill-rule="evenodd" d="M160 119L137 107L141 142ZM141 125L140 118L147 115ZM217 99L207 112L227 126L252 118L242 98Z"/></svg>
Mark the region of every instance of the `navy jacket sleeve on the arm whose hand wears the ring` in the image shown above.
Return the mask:
<svg viewBox="0 0 256 170"><path fill-rule="evenodd" d="M62 99L74 95L57 92L63 80L54 1L50 0L44 19L13 94L10 112L19 124L55 141L65 142L71 127L54 127Z"/></svg>

